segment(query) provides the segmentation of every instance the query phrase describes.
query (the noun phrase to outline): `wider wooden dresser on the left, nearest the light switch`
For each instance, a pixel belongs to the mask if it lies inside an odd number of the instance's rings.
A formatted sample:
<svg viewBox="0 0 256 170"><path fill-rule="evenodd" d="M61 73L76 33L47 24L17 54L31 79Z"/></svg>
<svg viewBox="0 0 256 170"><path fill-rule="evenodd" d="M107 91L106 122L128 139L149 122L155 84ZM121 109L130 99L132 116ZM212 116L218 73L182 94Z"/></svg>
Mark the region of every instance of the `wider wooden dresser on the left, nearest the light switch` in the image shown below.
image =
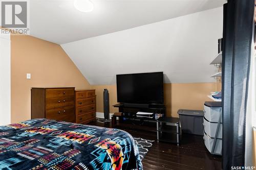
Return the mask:
<svg viewBox="0 0 256 170"><path fill-rule="evenodd" d="M31 118L75 122L75 88L32 88Z"/></svg>

